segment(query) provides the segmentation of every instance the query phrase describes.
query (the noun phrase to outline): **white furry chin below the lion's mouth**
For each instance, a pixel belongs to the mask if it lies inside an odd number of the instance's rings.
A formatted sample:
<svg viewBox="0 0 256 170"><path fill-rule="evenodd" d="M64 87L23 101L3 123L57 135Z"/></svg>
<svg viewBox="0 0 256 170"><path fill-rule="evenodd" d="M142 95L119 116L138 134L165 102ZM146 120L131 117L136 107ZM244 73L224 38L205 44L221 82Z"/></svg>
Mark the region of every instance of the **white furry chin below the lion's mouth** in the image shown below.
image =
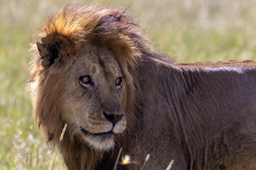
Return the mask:
<svg viewBox="0 0 256 170"><path fill-rule="evenodd" d="M95 150L107 151L114 148L114 135L87 135L85 141Z"/></svg>

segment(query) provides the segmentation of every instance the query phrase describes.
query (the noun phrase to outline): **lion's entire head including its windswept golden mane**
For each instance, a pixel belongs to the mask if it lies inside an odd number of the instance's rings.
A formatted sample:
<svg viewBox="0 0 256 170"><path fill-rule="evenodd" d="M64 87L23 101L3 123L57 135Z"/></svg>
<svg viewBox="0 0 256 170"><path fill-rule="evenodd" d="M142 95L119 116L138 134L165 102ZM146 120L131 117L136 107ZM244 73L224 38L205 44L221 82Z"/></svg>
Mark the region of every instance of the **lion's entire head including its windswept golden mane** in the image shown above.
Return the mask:
<svg viewBox="0 0 256 170"><path fill-rule="evenodd" d="M46 16L31 51L34 120L53 145L68 124L60 151L71 169L93 169L116 135L132 127L140 91L132 74L141 55L168 58L131 14L95 5Z"/></svg>

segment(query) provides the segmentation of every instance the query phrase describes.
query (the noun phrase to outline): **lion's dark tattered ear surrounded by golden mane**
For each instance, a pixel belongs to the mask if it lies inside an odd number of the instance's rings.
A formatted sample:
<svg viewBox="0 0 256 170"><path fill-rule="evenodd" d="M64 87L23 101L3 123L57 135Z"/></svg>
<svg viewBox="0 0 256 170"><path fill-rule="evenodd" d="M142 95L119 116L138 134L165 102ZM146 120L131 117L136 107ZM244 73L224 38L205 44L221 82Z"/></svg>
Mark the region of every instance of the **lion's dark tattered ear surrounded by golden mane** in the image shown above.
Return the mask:
<svg viewBox="0 0 256 170"><path fill-rule="evenodd" d="M41 38L41 42L36 44L44 68L57 62L64 62L65 55L68 55L67 49L71 47L71 42L64 35L49 34Z"/></svg>

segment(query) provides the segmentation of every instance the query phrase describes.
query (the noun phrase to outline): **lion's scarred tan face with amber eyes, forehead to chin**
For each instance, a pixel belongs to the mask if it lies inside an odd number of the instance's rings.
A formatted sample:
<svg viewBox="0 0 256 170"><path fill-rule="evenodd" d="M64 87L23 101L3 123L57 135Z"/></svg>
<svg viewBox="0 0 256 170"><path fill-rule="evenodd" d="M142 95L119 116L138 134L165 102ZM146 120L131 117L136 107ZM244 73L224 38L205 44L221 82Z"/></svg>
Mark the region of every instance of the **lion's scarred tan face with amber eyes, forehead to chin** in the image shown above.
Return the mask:
<svg viewBox="0 0 256 170"><path fill-rule="evenodd" d="M126 128L122 106L125 80L110 50L84 45L66 72L65 121L80 139L99 150L114 146L114 135Z"/></svg>

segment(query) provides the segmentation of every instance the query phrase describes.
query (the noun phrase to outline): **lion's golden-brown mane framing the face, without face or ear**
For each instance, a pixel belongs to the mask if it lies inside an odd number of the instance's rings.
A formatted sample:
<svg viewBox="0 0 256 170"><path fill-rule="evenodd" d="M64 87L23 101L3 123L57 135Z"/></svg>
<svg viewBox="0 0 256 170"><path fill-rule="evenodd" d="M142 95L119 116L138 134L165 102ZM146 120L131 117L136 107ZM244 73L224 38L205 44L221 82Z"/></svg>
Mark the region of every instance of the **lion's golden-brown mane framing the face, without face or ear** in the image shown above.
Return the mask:
<svg viewBox="0 0 256 170"><path fill-rule="evenodd" d="M125 10L126 11L126 10ZM135 119L136 94L139 85L131 76L141 55L149 55L162 61L172 59L165 53L155 50L149 39L142 33L137 19L125 11L111 9L99 5L76 6L67 5L62 10L46 16L40 24L39 33L31 41L32 62L29 70L29 89L33 104L33 117L38 128L42 125L43 136L47 141L59 144L59 137L64 126L61 118L61 82L63 73L76 59L76 52L85 43L97 46L107 46L120 64L123 77L126 80L126 89L123 106L127 116L127 126L131 127ZM63 57L65 62L51 67L45 66L44 59L40 56L37 43L43 38L62 37L67 42ZM61 37L59 37L61 38ZM65 40L63 40L65 39ZM42 42L43 43L43 42ZM136 90L137 89L137 90ZM86 146L81 146L67 128L60 151L67 165L77 169L94 169L96 162L103 157L103 153L96 152Z"/></svg>

